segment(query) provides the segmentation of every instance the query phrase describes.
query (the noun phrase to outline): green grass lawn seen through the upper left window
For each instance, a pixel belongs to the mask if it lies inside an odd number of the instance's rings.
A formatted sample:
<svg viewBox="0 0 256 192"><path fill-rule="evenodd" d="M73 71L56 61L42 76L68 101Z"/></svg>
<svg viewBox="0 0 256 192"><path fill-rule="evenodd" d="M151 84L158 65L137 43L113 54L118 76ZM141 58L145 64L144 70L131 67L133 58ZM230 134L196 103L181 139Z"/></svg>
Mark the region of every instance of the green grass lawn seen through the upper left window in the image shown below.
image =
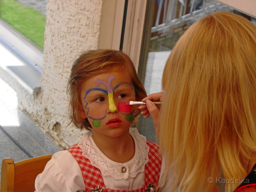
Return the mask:
<svg viewBox="0 0 256 192"><path fill-rule="evenodd" d="M0 18L43 50L45 16L41 12L16 0L0 0Z"/></svg>

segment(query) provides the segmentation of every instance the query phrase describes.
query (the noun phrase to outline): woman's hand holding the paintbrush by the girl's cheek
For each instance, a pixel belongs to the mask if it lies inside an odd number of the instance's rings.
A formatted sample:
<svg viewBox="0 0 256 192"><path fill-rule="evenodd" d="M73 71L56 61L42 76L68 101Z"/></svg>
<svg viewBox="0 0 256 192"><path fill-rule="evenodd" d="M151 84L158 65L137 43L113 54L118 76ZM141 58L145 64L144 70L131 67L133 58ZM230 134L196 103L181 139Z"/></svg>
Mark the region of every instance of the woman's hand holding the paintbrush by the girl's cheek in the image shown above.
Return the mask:
<svg viewBox="0 0 256 192"><path fill-rule="evenodd" d="M140 105L139 109L141 114L144 115L144 118L148 118L149 115L152 116L155 128L157 130L158 126L158 116L160 105L155 105L152 101L162 101L164 92L152 93L142 99L143 102L146 102L147 105Z"/></svg>

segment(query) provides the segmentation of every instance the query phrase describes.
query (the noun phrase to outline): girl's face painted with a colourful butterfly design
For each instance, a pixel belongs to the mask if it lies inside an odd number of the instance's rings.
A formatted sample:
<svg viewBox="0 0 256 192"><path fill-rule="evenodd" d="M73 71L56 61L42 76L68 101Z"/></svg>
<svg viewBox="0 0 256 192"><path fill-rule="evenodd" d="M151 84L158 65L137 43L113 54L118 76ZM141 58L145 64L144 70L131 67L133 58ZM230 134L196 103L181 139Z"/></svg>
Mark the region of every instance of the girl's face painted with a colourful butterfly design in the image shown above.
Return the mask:
<svg viewBox="0 0 256 192"><path fill-rule="evenodd" d="M131 77L127 71L108 72L94 76L82 84L83 118L88 118L93 132L118 137L134 119L135 100Z"/></svg>

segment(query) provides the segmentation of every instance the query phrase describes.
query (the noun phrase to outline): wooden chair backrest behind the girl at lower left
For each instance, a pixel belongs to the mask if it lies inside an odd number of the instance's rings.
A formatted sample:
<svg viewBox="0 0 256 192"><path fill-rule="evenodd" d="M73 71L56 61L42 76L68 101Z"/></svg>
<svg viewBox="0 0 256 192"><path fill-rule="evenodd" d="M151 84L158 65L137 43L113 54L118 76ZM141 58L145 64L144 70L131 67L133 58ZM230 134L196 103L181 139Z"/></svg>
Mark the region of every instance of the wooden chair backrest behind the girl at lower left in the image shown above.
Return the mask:
<svg viewBox="0 0 256 192"><path fill-rule="evenodd" d="M4 158L0 192L34 192L36 176L44 171L51 157L52 155L39 156L17 163L12 158Z"/></svg>

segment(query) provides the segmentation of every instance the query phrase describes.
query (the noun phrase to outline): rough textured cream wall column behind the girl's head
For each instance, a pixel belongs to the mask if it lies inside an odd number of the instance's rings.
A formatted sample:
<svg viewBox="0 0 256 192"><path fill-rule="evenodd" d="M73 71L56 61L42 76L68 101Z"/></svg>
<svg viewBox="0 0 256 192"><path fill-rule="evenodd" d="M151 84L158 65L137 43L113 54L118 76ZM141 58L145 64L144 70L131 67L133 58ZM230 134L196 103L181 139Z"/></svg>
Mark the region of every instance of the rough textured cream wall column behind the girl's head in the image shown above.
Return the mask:
<svg viewBox="0 0 256 192"><path fill-rule="evenodd" d="M68 125L67 81L72 62L99 41L101 0L48 0L44 68L39 95L20 95L20 108L60 147L75 144L84 131Z"/></svg>

